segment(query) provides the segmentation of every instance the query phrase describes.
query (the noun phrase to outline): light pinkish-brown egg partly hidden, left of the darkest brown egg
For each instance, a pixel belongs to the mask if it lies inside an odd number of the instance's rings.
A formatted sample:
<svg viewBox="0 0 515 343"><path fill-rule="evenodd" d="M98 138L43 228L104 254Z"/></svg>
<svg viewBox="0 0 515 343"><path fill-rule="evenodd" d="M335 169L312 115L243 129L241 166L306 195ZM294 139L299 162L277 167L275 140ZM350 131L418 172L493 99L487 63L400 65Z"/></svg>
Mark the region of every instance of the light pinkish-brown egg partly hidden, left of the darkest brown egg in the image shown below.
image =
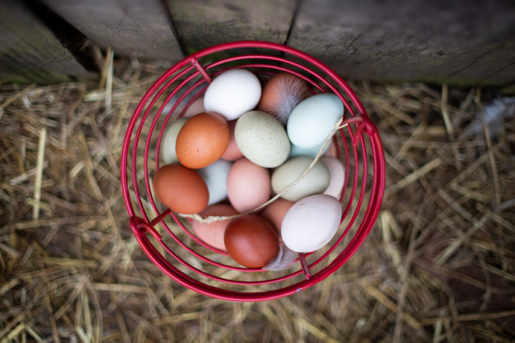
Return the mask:
<svg viewBox="0 0 515 343"><path fill-rule="evenodd" d="M200 212L200 215L204 217L209 215L229 216L235 214L238 214L238 211L232 208L232 206L229 204L216 204L209 206ZM212 223L200 223L194 220L192 223L192 228L193 231L195 231L197 237L205 243L208 243L217 249L226 250L224 243L224 233L230 221L231 219L226 219Z"/></svg>

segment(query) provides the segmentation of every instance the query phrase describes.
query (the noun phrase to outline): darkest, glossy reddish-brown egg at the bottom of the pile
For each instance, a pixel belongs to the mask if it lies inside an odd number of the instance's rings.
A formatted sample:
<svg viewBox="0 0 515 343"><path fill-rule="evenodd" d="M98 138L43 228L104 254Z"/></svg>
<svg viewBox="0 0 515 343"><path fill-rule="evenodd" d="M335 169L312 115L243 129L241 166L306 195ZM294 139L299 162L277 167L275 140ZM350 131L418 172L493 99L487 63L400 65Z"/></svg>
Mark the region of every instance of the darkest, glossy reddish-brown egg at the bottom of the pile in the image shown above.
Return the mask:
<svg viewBox="0 0 515 343"><path fill-rule="evenodd" d="M226 228L224 242L234 261L249 268L264 267L279 253L276 230L252 214L233 219Z"/></svg>

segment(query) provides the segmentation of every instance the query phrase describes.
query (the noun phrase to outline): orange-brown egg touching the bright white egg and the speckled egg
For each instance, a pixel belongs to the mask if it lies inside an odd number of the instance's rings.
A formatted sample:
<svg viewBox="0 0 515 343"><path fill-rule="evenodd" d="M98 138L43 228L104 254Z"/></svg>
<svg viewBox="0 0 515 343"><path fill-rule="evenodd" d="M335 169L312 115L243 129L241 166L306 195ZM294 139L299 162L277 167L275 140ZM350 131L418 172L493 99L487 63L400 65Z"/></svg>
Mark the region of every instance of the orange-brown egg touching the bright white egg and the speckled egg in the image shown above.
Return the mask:
<svg viewBox="0 0 515 343"><path fill-rule="evenodd" d="M175 145L177 159L187 168L215 163L229 145L229 125L214 112L199 113L182 126Z"/></svg>

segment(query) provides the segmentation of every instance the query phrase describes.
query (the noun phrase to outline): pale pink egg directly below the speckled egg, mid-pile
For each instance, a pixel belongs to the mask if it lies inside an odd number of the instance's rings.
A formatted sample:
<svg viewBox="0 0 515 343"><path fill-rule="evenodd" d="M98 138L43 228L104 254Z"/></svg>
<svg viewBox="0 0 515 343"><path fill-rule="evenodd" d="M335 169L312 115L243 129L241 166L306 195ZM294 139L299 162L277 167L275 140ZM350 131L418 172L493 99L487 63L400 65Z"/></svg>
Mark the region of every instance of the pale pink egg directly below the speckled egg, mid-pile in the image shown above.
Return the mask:
<svg viewBox="0 0 515 343"><path fill-rule="evenodd" d="M227 194L231 205L240 213L263 205L270 198L268 169L246 158L238 159L229 169Z"/></svg>

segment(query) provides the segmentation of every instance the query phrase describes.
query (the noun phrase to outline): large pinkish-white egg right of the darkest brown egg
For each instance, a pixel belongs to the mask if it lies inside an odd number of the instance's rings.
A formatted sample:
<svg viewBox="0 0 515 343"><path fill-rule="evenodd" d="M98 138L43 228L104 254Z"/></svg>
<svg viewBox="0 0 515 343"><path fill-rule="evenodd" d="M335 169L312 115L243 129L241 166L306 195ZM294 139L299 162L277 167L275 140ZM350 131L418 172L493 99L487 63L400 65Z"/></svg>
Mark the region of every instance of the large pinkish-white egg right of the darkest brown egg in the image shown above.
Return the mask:
<svg viewBox="0 0 515 343"><path fill-rule="evenodd" d="M281 224L281 237L293 251L315 251L331 241L340 220L341 205L334 196L310 195L286 212Z"/></svg>

